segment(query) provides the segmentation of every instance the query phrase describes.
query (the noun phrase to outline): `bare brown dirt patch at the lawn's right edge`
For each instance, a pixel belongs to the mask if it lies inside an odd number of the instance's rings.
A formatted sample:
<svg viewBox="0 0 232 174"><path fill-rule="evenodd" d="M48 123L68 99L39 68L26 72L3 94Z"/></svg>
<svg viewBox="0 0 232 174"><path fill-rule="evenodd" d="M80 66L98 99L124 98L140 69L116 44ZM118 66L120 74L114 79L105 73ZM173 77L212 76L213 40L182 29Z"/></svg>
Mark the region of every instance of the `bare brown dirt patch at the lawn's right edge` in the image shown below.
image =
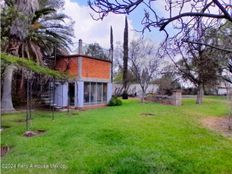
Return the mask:
<svg viewBox="0 0 232 174"><path fill-rule="evenodd" d="M203 126L217 131L224 136L232 137L232 128L229 125L232 125L232 118L229 117L207 117L201 120Z"/></svg>

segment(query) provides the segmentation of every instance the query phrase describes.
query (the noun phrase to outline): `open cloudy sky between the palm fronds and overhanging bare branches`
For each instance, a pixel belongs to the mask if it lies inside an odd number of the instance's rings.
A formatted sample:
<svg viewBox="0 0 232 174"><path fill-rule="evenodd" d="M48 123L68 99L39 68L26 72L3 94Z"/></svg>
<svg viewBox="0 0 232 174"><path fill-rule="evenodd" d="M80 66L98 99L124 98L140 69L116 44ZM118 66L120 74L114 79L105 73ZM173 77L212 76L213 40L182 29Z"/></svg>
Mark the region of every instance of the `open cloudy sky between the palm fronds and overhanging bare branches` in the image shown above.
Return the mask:
<svg viewBox="0 0 232 174"><path fill-rule="evenodd" d="M123 42L125 15L110 14L102 21L95 21L90 16L90 13L94 15L94 12L88 6L87 0L65 0L64 13L75 22L74 49L78 46L79 39L82 39L83 43L86 44L97 42L108 49L110 47L110 26L113 27L114 43ZM137 31L142 30L141 20L143 16L142 8L136 9L128 16L129 40L142 36L142 33ZM152 29L151 32L146 31L143 37L160 43L164 39L164 34L158 29Z"/></svg>

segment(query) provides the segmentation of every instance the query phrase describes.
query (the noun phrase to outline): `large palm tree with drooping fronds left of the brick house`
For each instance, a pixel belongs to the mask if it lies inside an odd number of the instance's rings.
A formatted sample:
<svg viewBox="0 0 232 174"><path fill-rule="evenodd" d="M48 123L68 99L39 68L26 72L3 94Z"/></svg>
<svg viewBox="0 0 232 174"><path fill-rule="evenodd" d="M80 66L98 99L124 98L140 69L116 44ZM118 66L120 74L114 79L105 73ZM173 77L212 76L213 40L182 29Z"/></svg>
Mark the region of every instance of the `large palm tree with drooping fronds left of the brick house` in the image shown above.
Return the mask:
<svg viewBox="0 0 232 174"><path fill-rule="evenodd" d="M40 4L37 0L5 0L5 2L1 16L3 21L6 19L3 22L3 25L6 25L4 27L10 30L2 31L1 38L4 37L6 46L1 47L5 48L7 53L33 58L38 64L44 65L43 57L51 54L54 46L60 52L68 48L72 41L70 32L72 26L65 25L66 15L57 13L56 7L60 6L58 0L42 0L39 1ZM4 18L5 16L14 16L15 19ZM4 71L2 111L14 111L11 83L15 69L14 65L8 65Z"/></svg>

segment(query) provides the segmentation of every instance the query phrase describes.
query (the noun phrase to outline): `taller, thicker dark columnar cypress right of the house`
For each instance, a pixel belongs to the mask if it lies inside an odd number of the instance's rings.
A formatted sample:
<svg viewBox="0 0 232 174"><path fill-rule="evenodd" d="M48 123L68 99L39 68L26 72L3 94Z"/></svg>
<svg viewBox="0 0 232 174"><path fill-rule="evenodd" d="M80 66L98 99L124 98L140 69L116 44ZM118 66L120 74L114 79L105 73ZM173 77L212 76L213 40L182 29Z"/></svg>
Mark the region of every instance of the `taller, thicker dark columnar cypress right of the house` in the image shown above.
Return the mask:
<svg viewBox="0 0 232 174"><path fill-rule="evenodd" d="M128 22L127 17L125 18L125 28L124 28L124 40L123 40L123 99L128 99Z"/></svg>

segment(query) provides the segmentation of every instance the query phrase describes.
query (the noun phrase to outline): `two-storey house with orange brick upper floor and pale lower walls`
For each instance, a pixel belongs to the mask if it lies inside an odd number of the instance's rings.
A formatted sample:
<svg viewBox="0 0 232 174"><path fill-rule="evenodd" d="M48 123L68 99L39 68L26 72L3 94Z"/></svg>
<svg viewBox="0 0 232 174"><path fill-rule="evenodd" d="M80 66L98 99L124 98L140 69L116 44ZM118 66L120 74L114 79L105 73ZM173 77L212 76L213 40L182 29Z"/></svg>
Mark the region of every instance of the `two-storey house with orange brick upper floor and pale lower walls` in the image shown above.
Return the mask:
<svg viewBox="0 0 232 174"><path fill-rule="evenodd" d="M81 40L78 54L57 57L55 68L69 75L67 81L55 83L56 106L95 107L111 99L111 61L83 55Z"/></svg>

